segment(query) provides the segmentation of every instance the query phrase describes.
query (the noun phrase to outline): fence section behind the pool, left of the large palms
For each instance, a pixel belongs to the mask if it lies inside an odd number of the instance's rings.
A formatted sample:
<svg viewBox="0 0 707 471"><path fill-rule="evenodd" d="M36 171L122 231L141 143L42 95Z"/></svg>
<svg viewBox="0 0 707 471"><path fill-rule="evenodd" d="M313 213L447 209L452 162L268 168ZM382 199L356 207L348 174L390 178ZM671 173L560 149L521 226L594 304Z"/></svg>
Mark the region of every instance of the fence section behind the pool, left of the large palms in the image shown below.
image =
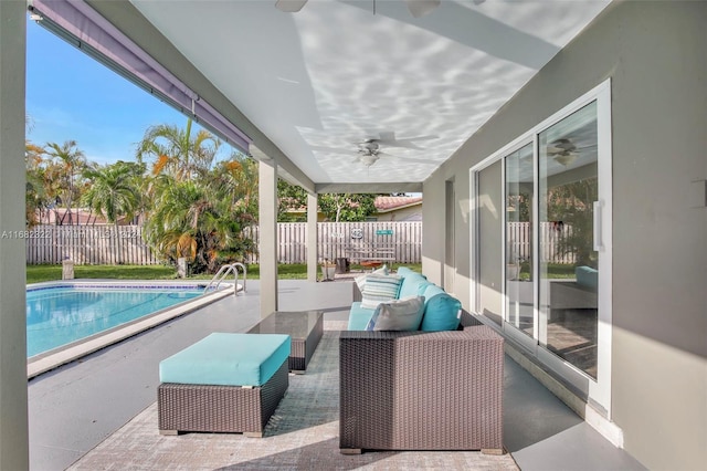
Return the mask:
<svg viewBox="0 0 707 471"><path fill-rule="evenodd" d="M143 241L139 226L35 226L22 233L27 263L154 265L160 263Z"/></svg>

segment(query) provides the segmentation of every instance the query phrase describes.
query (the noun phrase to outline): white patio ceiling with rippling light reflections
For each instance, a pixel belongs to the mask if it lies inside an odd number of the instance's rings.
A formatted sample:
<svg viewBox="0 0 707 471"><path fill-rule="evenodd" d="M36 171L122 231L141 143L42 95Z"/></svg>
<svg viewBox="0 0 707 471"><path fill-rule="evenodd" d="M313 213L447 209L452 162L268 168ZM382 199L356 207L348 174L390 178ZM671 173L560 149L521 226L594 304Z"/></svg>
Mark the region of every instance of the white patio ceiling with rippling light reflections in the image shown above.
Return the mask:
<svg viewBox="0 0 707 471"><path fill-rule="evenodd" d="M402 1L130 3L326 186L424 181L609 1L443 0L419 19Z"/></svg>

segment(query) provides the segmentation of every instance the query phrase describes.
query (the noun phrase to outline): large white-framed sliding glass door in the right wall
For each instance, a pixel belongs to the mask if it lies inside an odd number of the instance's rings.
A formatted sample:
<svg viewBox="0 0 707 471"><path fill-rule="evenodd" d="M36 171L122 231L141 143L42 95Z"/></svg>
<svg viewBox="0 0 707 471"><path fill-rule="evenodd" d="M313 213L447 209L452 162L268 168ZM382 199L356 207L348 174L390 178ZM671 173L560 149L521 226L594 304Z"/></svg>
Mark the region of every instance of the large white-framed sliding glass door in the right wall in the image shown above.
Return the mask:
<svg viewBox="0 0 707 471"><path fill-rule="evenodd" d="M609 410L609 83L472 169L474 306Z"/></svg>

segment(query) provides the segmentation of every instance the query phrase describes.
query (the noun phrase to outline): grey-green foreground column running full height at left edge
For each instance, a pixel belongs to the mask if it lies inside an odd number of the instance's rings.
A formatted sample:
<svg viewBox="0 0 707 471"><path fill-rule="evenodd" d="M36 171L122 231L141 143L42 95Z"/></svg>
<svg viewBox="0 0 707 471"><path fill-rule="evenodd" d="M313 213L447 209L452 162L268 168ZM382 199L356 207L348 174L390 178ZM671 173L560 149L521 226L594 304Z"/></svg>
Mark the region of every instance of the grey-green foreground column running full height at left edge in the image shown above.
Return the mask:
<svg viewBox="0 0 707 471"><path fill-rule="evenodd" d="M27 407L27 2L0 1L0 469L30 467Z"/></svg>

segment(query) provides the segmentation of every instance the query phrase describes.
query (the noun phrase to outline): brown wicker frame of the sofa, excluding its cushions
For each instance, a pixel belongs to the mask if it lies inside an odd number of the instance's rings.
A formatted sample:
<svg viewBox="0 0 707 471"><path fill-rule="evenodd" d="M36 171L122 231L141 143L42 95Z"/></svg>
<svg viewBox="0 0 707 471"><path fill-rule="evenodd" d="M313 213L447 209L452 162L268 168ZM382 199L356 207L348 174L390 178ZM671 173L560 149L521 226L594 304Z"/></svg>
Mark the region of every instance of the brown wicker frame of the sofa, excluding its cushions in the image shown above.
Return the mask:
<svg viewBox="0 0 707 471"><path fill-rule="evenodd" d="M341 453L503 452L504 341L461 311L456 331L345 331Z"/></svg>

